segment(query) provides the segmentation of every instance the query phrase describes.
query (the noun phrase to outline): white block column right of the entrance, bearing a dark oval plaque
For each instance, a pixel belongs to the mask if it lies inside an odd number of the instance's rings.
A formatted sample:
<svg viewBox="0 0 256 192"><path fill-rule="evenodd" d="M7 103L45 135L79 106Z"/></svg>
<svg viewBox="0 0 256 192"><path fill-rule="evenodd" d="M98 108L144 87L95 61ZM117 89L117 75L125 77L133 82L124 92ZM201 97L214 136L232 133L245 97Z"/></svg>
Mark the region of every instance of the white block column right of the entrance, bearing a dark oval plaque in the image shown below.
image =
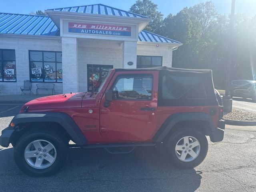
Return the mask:
<svg viewBox="0 0 256 192"><path fill-rule="evenodd" d="M133 65L128 65L128 62L133 62ZM136 69L137 66L137 42L123 42L123 68Z"/></svg>

